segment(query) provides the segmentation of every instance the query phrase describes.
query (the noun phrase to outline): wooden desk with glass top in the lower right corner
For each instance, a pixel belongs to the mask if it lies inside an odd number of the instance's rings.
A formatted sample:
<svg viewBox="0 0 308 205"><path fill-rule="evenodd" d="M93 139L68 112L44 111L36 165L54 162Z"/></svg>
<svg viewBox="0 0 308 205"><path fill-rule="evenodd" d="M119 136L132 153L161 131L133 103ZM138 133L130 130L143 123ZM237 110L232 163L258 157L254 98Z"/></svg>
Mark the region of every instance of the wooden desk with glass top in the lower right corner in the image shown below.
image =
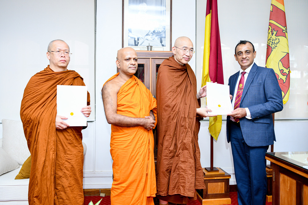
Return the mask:
<svg viewBox="0 0 308 205"><path fill-rule="evenodd" d="M308 152L266 152L273 162L273 205L308 204Z"/></svg>

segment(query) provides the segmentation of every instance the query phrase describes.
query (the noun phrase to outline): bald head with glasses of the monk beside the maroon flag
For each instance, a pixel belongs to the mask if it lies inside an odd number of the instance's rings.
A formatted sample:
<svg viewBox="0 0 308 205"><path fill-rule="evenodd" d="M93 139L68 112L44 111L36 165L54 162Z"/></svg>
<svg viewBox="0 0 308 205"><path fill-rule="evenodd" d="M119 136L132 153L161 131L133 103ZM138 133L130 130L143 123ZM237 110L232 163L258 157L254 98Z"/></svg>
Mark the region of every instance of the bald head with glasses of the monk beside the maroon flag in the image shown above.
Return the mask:
<svg viewBox="0 0 308 205"><path fill-rule="evenodd" d="M174 42L174 46L172 47L174 59L180 65L188 63L193 57L193 52L190 54L191 50L193 50L193 42L186 36L178 37Z"/></svg>

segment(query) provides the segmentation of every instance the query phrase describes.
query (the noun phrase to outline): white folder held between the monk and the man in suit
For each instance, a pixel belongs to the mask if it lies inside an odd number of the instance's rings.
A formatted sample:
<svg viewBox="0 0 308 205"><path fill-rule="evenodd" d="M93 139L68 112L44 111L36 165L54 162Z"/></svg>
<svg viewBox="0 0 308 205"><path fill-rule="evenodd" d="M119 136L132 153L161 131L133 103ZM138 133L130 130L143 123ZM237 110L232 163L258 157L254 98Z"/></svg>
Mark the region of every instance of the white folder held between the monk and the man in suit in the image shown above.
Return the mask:
<svg viewBox="0 0 308 205"><path fill-rule="evenodd" d="M229 85L206 82L206 104L212 115L226 115L233 111Z"/></svg>

